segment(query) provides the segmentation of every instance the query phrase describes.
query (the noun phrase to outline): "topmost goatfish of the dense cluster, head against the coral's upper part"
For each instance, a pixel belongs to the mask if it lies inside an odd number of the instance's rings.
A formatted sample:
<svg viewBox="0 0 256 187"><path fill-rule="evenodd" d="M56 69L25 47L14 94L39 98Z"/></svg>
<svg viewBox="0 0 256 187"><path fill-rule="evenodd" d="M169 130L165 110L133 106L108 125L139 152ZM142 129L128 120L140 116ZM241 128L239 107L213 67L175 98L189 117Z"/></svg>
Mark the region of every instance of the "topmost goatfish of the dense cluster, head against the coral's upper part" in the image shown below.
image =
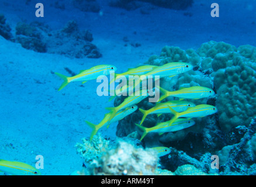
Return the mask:
<svg viewBox="0 0 256 187"><path fill-rule="evenodd" d="M148 72L147 74L144 74L143 76L145 76L145 78L147 78L149 75L158 75L160 76L160 78L174 77L175 75L182 74L192 69L193 66L188 63L167 63L154 68L152 71Z"/></svg>

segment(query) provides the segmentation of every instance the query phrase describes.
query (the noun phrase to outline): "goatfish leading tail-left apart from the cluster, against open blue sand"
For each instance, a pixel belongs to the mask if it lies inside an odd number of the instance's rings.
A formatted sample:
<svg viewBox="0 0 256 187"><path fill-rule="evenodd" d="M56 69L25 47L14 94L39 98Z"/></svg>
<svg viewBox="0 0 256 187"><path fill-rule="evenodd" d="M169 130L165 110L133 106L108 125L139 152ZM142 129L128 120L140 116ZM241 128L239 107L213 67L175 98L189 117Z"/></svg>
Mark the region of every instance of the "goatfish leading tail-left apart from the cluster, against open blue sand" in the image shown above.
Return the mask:
<svg viewBox="0 0 256 187"><path fill-rule="evenodd" d="M58 75L58 77L64 80L63 84L60 86L58 91L63 89L70 82L83 81L82 84L84 84L89 80L97 79L99 76L109 75L110 71L116 71L116 69L117 68L114 65L96 65L92 68L89 68L88 70L81 70L79 74L73 77L67 77L58 72L55 72L55 74Z"/></svg>

